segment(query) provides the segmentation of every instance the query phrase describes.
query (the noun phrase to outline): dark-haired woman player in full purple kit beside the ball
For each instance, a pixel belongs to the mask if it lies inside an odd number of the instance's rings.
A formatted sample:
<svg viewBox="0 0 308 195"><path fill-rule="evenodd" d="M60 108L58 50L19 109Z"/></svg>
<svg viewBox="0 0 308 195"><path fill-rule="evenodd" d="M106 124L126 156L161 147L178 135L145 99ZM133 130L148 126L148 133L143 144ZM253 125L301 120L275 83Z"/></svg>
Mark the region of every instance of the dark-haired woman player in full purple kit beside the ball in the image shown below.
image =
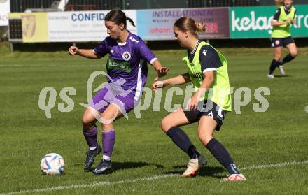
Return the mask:
<svg viewBox="0 0 308 195"><path fill-rule="evenodd" d="M103 158L92 170L96 174L112 171L111 154L116 138L113 122L133 110L141 99L148 74L147 63L152 64L158 73L155 80L165 76L169 71L160 64L158 58L139 36L127 31L126 20L133 26L134 22L123 11L111 10L104 20L109 36L93 50L78 49L74 46L69 48L70 55L80 55L90 59L99 59L109 54L106 64L109 84L93 97L90 106L83 113L82 120L83 135L89 145L84 168L89 170L94 157L102 152L102 147L97 143L95 115L98 114L102 119Z"/></svg>

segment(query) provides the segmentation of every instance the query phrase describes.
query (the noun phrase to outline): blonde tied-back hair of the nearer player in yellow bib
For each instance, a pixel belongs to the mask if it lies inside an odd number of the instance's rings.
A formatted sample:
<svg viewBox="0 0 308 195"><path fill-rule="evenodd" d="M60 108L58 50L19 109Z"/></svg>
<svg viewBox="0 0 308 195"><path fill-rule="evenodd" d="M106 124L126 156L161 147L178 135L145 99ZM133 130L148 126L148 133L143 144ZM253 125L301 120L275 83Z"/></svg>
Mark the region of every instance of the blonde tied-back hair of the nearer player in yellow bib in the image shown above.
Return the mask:
<svg viewBox="0 0 308 195"><path fill-rule="evenodd" d="M181 31L190 31L190 33L196 37L198 33L205 32L207 30L206 24L195 22L195 20L191 17L180 17L174 23L174 27L177 27Z"/></svg>

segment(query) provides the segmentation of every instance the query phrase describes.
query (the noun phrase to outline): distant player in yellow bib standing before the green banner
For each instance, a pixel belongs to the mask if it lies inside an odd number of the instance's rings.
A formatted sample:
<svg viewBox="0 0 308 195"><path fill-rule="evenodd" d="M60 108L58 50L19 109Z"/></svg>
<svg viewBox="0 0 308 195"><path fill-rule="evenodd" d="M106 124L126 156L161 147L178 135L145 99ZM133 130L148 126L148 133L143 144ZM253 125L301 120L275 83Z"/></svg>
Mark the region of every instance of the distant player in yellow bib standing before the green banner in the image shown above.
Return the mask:
<svg viewBox="0 0 308 195"><path fill-rule="evenodd" d="M274 48L274 59L269 66L267 78L275 78L273 73L276 67L279 67L281 75L285 75L283 64L290 62L297 56L297 47L291 36L291 24L295 24L296 9L292 6L292 0L276 0L279 8L272 20L272 48ZM283 47L286 47L290 52L286 57L282 57Z"/></svg>

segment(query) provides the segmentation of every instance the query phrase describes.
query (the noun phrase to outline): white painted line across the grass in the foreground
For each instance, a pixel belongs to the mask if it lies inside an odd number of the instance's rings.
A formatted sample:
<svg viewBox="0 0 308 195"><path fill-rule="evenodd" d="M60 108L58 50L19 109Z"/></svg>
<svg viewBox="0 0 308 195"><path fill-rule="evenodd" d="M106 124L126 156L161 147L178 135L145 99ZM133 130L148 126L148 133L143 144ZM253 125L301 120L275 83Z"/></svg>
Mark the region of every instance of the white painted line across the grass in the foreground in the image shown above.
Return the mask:
<svg viewBox="0 0 308 195"><path fill-rule="evenodd" d="M300 165L300 164L308 164L308 160L302 161L302 162L292 161L292 162L284 162L284 163L279 163L279 164L248 166L245 168L240 168L240 170L249 170L249 169L258 169L258 168L276 168L276 167L293 166L293 165ZM163 178L172 178L172 177L179 177L179 176L180 176L179 174L168 174L168 175L155 175L155 176L148 177L148 178L137 178L134 180L120 180L117 182L92 182L90 184L80 184L80 185L60 185L57 187L29 189L29 190L20 190L20 191L15 191L15 192L1 193L0 195L25 194L25 193L34 193L34 192L50 192L50 191L57 191L57 190L62 190L62 189L78 189L78 188L99 187L99 186L106 186L106 185L121 185L121 184L127 184L127 183L160 180Z"/></svg>

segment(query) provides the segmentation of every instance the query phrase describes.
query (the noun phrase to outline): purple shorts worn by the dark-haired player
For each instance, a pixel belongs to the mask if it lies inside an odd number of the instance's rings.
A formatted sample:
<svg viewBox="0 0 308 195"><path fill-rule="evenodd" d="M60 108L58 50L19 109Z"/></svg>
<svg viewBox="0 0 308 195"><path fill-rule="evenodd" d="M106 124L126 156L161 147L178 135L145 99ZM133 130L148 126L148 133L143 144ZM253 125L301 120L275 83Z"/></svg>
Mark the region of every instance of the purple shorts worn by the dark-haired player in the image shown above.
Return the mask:
<svg viewBox="0 0 308 195"><path fill-rule="evenodd" d="M90 106L95 110L98 110L100 113L104 113L110 103L116 104L122 113L128 113L130 110L134 109L136 103L134 100L134 92L119 95L109 89L109 87L104 87L95 94L90 102Z"/></svg>

